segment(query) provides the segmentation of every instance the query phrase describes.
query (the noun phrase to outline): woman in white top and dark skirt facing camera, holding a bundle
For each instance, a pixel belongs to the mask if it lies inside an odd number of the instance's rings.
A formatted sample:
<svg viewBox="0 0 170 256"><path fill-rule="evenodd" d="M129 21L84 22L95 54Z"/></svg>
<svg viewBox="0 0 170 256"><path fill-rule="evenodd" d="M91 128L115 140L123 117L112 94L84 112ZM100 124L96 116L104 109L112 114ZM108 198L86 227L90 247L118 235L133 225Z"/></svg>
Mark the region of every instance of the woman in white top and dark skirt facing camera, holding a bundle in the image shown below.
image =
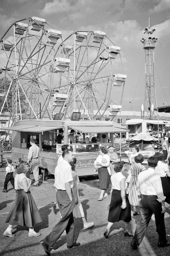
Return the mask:
<svg viewBox="0 0 170 256"><path fill-rule="evenodd" d="M102 201L103 198L108 198L107 188L110 182L110 157L107 155L107 149L105 147L99 148L100 155L95 161L95 169L98 170L99 174L99 188L101 189L101 194L98 201Z"/></svg>

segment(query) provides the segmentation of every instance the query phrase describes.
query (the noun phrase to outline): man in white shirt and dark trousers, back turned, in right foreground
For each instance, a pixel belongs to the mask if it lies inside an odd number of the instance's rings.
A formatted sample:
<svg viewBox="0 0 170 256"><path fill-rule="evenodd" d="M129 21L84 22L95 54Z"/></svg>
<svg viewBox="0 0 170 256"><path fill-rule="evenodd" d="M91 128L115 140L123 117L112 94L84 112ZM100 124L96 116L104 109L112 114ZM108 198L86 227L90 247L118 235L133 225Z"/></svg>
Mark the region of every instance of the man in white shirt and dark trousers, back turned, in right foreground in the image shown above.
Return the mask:
<svg viewBox="0 0 170 256"><path fill-rule="evenodd" d="M152 156L148 159L148 170L142 171L138 175L136 191L140 202L140 219L137 222L134 237L131 242L131 247L137 249L137 246L141 243L148 224L152 217L155 215L156 232L159 235L158 247L169 246L170 243L166 239L166 230L164 223L165 208L165 196L163 194L163 188L160 176L155 173L155 167L158 160Z"/></svg>

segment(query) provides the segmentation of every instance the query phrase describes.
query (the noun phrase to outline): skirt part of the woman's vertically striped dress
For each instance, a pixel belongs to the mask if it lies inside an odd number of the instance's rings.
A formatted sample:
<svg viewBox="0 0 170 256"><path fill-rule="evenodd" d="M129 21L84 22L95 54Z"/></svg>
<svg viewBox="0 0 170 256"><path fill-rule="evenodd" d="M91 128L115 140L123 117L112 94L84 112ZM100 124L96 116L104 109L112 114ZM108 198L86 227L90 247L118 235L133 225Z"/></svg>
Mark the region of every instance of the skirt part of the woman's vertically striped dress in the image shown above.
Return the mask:
<svg viewBox="0 0 170 256"><path fill-rule="evenodd" d="M129 183L129 202L131 205L138 205L138 195L136 194L137 176L132 176Z"/></svg>

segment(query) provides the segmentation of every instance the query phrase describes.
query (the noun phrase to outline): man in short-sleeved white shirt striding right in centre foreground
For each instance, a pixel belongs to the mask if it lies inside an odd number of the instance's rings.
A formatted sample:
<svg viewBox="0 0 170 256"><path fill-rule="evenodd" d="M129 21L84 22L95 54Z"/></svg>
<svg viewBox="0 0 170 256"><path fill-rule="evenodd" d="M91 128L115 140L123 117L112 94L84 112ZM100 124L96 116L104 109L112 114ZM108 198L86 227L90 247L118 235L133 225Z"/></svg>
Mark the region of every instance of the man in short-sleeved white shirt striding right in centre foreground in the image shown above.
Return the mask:
<svg viewBox="0 0 170 256"><path fill-rule="evenodd" d="M52 246L57 239L66 230L67 233L67 248L70 249L74 246L79 246L80 243L74 241L74 219L72 211L75 206L73 198L72 187L73 178L71 174L70 162L73 160L73 153L71 150L63 151L63 162L55 168L55 183L54 187L57 189L56 198L58 208L60 210L62 218L54 226L51 233L41 240L41 245L44 251L50 255ZM77 204L78 202L76 202Z"/></svg>

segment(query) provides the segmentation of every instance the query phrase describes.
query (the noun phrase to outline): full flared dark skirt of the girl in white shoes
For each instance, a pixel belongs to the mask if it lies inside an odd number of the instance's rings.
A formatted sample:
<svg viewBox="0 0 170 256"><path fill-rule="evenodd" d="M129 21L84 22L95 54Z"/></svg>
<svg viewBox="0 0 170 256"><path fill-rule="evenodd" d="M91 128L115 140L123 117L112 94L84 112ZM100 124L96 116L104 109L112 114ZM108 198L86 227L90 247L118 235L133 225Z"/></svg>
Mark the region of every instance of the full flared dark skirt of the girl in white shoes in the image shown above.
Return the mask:
<svg viewBox="0 0 170 256"><path fill-rule="evenodd" d="M41 221L41 216L31 192L26 193L23 189L17 190L15 201L5 222L10 225L33 227Z"/></svg>

